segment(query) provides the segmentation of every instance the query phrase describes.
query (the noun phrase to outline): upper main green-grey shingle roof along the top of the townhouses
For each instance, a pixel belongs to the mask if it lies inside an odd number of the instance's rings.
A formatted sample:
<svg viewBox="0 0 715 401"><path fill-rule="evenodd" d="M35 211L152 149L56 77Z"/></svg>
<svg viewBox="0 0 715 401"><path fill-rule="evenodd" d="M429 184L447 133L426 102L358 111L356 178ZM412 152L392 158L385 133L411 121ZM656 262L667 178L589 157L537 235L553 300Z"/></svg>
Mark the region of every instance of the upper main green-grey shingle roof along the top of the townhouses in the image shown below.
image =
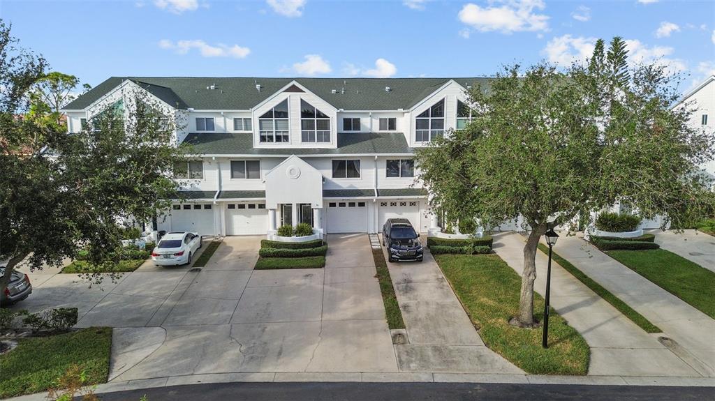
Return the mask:
<svg viewBox="0 0 715 401"><path fill-rule="evenodd" d="M317 96L344 110L411 108L453 79L462 86L478 86L489 78L211 78L113 76L79 96L65 108L85 108L126 79L138 83L172 106L197 110L248 110L297 81ZM256 83L261 90L256 89ZM215 85L215 89L207 86ZM385 91L385 86L390 91ZM332 93L335 90L337 93ZM345 93L342 93L344 90Z"/></svg>

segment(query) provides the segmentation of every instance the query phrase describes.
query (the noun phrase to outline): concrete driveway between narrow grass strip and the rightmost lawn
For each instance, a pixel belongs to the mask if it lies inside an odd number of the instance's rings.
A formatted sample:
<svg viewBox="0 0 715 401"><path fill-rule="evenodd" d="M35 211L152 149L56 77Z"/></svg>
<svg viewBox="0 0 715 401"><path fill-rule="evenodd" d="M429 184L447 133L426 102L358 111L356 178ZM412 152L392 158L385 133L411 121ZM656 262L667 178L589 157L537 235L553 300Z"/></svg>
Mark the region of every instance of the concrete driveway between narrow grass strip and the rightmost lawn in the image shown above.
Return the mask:
<svg viewBox="0 0 715 401"><path fill-rule="evenodd" d="M701 375L715 377L715 320L581 238L562 235L554 250L661 328Z"/></svg>

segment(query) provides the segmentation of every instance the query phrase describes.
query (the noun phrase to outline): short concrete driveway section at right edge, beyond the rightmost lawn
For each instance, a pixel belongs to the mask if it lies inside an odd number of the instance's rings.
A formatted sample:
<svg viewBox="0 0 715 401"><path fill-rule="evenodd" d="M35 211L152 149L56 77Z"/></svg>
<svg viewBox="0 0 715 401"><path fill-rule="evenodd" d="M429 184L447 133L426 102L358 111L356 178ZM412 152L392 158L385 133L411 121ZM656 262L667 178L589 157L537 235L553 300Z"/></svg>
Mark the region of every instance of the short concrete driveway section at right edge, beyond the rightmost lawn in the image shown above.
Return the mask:
<svg viewBox="0 0 715 401"><path fill-rule="evenodd" d="M698 230L683 230L682 233L663 230L649 230L656 235L656 243L661 248L697 263L715 272L715 237Z"/></svg>

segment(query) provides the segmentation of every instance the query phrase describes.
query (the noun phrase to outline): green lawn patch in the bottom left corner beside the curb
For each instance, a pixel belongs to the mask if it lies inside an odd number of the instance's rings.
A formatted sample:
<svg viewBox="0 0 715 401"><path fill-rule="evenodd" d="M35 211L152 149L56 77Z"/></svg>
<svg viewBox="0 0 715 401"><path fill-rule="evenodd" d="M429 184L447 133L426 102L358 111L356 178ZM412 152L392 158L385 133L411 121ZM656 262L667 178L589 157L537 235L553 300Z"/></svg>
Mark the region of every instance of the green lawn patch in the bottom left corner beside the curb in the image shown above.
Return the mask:
<svg viewBox="0 0 715 401"><path fill-rule="evenodd" d="M107 382L111 349L111 328L24 338L0 355L0 398L48 390L73 364L82 367L88 385Z"/></svg>

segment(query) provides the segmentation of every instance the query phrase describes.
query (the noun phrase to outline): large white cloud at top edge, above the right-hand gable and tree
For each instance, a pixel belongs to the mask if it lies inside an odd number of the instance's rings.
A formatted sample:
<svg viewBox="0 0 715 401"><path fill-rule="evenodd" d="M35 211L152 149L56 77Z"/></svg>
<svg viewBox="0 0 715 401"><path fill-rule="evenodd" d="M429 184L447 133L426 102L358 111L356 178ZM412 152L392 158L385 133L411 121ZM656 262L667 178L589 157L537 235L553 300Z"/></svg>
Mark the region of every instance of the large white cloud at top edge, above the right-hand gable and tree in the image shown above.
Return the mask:
<svg viewBox="0 0 715 401"><path fill-rule="evenodd" d="M498 0L487 7L465 4L459 11L463 24L482 32L501 31L511 34L517 31L546 31L548 16L536 14L546 5L542 0ZM495 6L501 4L501 6Z"/></svg>

